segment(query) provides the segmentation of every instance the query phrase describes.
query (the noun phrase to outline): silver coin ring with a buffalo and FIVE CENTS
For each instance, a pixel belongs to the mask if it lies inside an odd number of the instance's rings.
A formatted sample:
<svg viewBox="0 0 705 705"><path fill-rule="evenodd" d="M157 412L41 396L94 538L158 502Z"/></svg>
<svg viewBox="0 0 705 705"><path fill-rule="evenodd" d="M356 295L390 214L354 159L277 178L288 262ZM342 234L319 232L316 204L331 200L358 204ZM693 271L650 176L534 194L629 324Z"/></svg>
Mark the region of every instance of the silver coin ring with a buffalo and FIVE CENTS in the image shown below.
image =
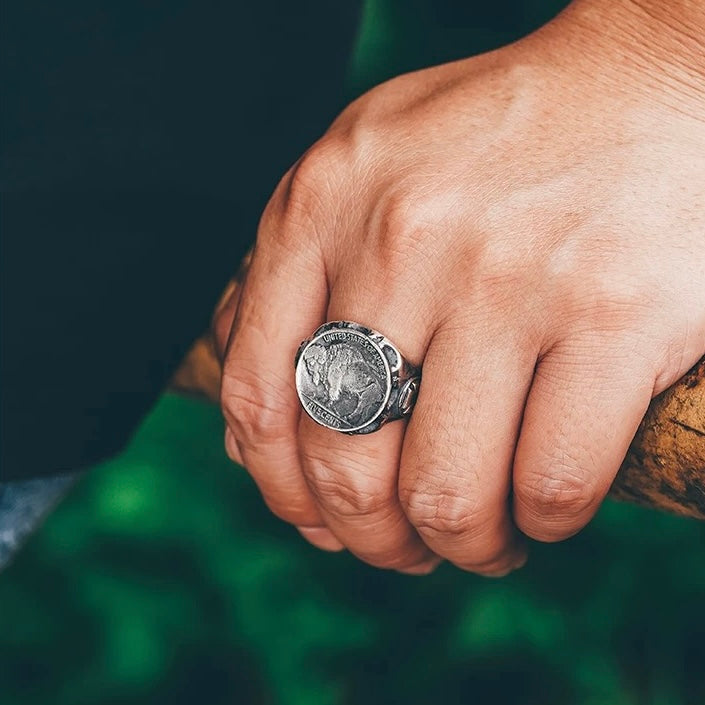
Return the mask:
<svg viewBox="0 0 705 705"><path fill-rule="evenodd" d="M372 433L409 416L421 370L372 328L332 321L296 351L296 391L306 413L341 433Z"/></svg>

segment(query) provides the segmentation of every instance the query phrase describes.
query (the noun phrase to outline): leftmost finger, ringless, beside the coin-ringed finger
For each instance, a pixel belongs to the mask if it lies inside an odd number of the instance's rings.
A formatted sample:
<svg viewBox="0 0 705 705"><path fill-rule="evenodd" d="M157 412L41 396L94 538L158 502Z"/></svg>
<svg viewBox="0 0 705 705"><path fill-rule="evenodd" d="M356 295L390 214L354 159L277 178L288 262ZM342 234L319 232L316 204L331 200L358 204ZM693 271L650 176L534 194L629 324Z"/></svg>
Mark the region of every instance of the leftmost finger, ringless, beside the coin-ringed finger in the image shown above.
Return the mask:
<svg viewBox="0 0 705 705"><path fill-rule="evenodd" d="M318 527L324 522L298 455L293 364L299 343L325 316L328 288L315 238L306 237L298 211L291 217L294 173L260 222L226 346L221 405L226 448L242 458L269 508L296 526Z"/></svg>

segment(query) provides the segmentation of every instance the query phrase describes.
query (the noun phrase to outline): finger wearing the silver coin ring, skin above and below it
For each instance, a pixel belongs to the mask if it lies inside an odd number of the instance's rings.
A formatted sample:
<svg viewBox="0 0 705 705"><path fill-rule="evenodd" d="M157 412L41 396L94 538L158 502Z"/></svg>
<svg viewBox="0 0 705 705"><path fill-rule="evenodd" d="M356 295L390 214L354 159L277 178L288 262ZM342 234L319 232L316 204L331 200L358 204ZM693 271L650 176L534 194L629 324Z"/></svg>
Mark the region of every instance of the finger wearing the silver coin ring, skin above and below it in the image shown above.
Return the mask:
<svg viewBox="0 0 705 705"><path fill-rule="evenodd" d="M374 288L369 272L367 268L366 275L358 270L339 278L327 320L369 326L417 364L428 337L425 317L404 297L370 295ZM406 422L397 421L375 433L349 436L302 414L299 452L321 515L341 543L371 565L424 573L438 559L406 518L397 490L405 428Z"/></svg>

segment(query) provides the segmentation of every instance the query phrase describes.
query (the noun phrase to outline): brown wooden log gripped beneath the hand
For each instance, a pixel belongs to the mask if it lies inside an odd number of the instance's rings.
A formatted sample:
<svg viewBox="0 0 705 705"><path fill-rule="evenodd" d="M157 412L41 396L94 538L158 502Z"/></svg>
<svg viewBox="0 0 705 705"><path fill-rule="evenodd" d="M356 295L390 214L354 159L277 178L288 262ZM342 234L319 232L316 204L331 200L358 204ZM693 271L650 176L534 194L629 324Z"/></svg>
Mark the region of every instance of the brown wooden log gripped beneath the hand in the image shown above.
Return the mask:
<svg viewBox="0 0 705 705"><path fill-rule="evenodd" d="M216 311L239 286L246 267L247 260ZM210 333L194 343L171 387L217 401L220 363ZM610 494L705 519L705 357L652 400Z"/></svg>

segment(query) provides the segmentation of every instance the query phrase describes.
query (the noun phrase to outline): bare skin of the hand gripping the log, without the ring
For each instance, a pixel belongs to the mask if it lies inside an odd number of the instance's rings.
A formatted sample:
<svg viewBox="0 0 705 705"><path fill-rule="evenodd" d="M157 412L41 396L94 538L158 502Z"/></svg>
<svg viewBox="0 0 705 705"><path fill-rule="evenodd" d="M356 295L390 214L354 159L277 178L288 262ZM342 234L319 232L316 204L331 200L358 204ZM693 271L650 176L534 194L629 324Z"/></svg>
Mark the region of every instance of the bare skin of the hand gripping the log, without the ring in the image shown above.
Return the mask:
<svg viewBox="0 0 705 705"><path fill-rule="evenodd" d="M499 576L606 495L653 396L705 354L698 3L578 2L349 106L277 187L216 321L229 455L313 544ZM336 434L293 357L387 335L411 420Z"/></svg>

